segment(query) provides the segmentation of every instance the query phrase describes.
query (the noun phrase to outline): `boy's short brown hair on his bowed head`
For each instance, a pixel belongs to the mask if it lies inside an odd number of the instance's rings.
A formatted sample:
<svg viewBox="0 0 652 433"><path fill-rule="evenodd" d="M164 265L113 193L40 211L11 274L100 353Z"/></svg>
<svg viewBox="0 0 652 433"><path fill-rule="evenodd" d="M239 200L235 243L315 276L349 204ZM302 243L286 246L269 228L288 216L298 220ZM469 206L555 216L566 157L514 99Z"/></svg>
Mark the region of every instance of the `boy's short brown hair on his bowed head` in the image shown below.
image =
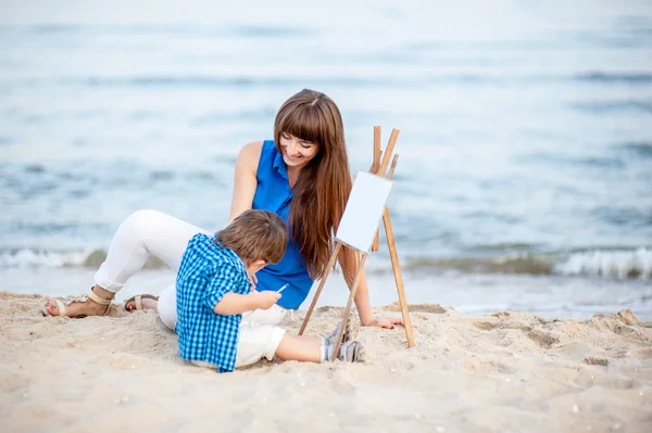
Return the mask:
<svg viewBox="0 0 652 433"><path fill-rule="evenodd" d="M259 259L277 264L288 245L288 229L275 213L249 209L220 230L215 242L233 250L247 266Z"/></svg>

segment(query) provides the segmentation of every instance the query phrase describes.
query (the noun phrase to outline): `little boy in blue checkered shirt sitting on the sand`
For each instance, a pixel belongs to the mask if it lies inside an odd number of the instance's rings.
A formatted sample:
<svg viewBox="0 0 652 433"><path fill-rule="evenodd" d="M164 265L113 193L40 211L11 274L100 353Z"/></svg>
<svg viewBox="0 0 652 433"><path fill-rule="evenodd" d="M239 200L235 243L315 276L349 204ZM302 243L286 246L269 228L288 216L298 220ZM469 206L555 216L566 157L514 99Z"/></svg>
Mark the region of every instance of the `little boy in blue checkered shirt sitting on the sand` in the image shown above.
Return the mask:
<svg viewBox="0 0 652 433"><path fill-rule="evenodd" d="M280 293L251 292L256 271L278 263L288 231L268 211L247 211L212 239L196 234L184 253L176 280L179 354L201 367L233 371L274 355L283 360L319 362L333 354L337 330L326 339L287 335L279 327L246 322L242 313L267 309ZM341 360L362 356L359 342L344 334Z"/></svg>

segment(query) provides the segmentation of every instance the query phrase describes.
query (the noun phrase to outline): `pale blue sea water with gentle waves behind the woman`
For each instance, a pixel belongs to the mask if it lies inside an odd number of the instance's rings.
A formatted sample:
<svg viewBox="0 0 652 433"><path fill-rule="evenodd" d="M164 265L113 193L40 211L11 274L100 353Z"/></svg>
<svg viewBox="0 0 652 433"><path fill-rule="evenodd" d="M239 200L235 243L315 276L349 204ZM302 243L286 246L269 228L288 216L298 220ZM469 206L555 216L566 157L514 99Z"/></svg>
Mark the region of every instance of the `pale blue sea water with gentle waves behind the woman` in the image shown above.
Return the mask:
<svg viewBox="0 0 652 433"><path fill-rule="evenodd" d="M374 125L401 130L411 303L652 318L642 1L3 2L2 289L85 291L139 208L224 227L238 150L303 88L338 103L353 174ZM383 242L367 272L393 302ZM172 281L153 263L123 294Z"/></svg>

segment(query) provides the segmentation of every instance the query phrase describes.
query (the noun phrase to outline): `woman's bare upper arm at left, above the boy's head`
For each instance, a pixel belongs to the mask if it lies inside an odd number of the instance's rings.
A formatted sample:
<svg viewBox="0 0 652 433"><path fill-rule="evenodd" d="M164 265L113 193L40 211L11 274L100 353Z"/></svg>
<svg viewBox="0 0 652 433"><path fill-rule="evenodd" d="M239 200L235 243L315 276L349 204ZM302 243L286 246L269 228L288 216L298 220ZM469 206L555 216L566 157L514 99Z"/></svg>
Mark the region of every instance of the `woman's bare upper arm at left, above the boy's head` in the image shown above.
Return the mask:
<svg viewBox="0 0 652 433"><path fill-rule="evenodd" d="M231 222L238 215L251 208L253 196L258 187L255 174L258 171L262 141L252 141L246 144L236 161L236 175L234 180L234 194L228 221Z"/></svg>

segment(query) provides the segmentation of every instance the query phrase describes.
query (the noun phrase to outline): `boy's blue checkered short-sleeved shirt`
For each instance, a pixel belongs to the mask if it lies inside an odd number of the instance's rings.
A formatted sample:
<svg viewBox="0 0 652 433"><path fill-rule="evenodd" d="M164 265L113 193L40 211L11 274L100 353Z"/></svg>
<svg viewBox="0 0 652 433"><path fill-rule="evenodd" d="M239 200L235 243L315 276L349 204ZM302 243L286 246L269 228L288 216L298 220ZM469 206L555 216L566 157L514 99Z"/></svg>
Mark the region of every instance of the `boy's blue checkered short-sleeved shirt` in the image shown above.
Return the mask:
<svg viewBox="0 0 652 433"><path fill-rule="evenodd" d="M220 372L236 367L242 315L223 316L213 308L229 292L249 294L244 264L234 251L198 233L188 242L177 272L179 354L188 360L216 365Z"/></svg>

